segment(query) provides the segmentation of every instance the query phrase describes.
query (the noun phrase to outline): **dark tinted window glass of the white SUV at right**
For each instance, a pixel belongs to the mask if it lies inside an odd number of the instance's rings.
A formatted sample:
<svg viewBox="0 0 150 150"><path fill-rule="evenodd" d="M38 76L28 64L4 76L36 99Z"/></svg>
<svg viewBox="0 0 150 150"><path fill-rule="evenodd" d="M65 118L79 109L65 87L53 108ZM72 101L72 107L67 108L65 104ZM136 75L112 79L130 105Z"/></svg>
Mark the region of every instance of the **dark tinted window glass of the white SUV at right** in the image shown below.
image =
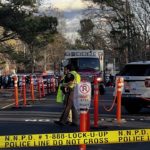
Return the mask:
<svg viewBox="0 0 150 150"><path fill-rule="evenodd" d="M150 65L126 65L119 75L150 76Z"/></svg>

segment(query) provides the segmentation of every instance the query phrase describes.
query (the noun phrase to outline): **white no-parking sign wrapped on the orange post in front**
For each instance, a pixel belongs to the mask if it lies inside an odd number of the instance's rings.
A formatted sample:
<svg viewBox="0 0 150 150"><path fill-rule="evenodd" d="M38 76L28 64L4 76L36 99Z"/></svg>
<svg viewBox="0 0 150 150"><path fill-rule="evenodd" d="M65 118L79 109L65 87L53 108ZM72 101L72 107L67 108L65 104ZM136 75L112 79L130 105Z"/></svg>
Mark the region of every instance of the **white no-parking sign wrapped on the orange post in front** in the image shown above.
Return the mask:
<svg viewBox="0 0 150 150"><path fill-rule="evenodd" d="M88 110L91 104L91 83L80 82L74 89L74 106L78 111Z"/></svg>

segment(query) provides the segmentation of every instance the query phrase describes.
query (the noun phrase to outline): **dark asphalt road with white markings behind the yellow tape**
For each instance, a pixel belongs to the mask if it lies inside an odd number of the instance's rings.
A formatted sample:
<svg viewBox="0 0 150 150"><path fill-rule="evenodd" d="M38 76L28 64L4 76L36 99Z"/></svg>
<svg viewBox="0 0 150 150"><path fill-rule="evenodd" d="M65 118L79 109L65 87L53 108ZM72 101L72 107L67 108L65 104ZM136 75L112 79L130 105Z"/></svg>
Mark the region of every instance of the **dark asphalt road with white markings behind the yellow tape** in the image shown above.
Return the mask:
<svg viewBox="0 0 150 150"><path fill-rule="evenodd" d="M122 129L140 129L150 127L150 109L145 108L139 114L129 115L122 108L122 121L118 124L116 121L115 107L111 112L106 112L105 107L112 105L113 89L107 89L105 96L99 98L99 122L98 127L93 125L93 101L90 109L90 131L108 131ZM20 99L21 100L21 99ZM19 108L14 107L12 95L0 96L0 135L24 135L24 134L47 134L47 133L69 133L79 131L79 127L74 126L58 126L54 124L54 120L59 119L63 110L62 104L55 102L55 95L48 95L41 100L36 99L33 103L28 100L28 105ZM124 144L99 144L87 145L87 150L149 150L150 142L144 143L124 143ZM11 148L12 149L12 148ZM61 146L61 147L33 147L33 148L13 148L15 149L36 149L36 150L79 150L79 146Z"/></svg>

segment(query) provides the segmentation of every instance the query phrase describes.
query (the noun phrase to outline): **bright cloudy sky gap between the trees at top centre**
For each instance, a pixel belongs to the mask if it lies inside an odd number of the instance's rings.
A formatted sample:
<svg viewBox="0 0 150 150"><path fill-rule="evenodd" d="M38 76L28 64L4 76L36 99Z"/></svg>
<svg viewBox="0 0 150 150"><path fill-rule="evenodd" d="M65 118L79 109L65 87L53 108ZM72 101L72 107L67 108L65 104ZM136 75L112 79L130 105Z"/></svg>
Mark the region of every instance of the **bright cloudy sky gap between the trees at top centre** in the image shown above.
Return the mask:
<svg viewBox="0 0 150 150"><path fill-rule="evenodd" d="M76 37L76 31L79 29L80 19L87 4L82 0L43 0L43 7L53 5L55 8L64 12L66 18L67 37Z"/></svg>

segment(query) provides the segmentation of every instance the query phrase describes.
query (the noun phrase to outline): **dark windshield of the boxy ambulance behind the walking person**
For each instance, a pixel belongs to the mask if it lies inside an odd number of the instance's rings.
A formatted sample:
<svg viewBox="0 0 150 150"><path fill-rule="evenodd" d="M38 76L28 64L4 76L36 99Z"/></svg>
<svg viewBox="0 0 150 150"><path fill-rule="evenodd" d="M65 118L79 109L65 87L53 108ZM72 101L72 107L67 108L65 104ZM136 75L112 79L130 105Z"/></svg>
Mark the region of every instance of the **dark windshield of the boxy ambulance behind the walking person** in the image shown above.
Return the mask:
<svg viewBox="0 0 150 150"><path fill-rule="evenodd" d="M73 58L71 64L74 65L77 71L79 70L100 70L98 58Z"/></svg>

